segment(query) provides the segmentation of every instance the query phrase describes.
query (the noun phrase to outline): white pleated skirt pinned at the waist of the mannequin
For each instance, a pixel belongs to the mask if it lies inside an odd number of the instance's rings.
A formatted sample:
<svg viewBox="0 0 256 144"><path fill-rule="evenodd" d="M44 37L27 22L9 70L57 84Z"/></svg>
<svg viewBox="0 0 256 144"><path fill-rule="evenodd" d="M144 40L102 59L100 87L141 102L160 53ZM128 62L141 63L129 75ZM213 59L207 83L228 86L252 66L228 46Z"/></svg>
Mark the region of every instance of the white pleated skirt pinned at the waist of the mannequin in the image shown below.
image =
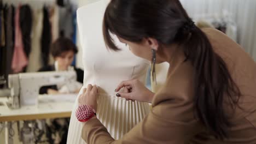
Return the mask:
<svg viewBox="0 0 256 144"><path fill-rule="evenodd" d="M75 117L77 106L77 101L75 101L69 123L67 144L85 143L81 137L83 123L79 122ZM97 118L116 140L130 131L149 111L148 103L126 101L124 98L106 94L98 95Z"/></svg>

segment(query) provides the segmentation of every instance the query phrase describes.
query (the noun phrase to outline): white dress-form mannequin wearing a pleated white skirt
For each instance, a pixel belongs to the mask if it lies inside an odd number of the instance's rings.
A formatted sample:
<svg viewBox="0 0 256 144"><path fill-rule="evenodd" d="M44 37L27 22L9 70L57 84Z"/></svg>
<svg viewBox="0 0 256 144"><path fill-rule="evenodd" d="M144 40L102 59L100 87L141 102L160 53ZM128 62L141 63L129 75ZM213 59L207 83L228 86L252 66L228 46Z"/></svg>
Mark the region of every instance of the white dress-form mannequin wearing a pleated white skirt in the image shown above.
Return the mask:
<svg viewBox="0 0 256 144"><path fill-rule="evenodd" d="M116 43L122 49L112 52L106 48L102 35L104 10L109 0L101 0L81 7L77 11L78 29L83 48L84 86L98 86L97 117L114 139L120 139L150 111L147 103L127 101L115 96L115 88L121 81L139 79L146 82L150 63L132 55L129 48ZM83 88L80 93L83 92ZM80 94L79 93L79 94ZM75 101L68 130L68 144L85 143L81 137L83 123L75 117L78 107Z"/></svg>

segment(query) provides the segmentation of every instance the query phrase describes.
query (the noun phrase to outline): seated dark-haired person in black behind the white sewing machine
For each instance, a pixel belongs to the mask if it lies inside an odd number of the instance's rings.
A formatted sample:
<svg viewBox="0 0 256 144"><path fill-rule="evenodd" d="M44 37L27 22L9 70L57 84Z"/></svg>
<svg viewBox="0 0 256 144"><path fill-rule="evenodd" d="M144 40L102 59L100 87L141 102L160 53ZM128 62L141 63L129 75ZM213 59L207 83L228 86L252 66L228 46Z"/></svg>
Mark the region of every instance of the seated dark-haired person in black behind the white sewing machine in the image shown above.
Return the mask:
<svg viewBox="0 0 256 144"><path fill-rule="evenodd" d="M47 65L40 68L39 71L65 71L65 70L75 70L77 73L77 91L82 87L84 80L84 71L71 66L73 62L74 55L78 52L77 47L68 38L59 38L51 45L51 54L54 57L54 65ZM44 86L40 88L39 94L59 94L66 93L65 86Z"/></svg>

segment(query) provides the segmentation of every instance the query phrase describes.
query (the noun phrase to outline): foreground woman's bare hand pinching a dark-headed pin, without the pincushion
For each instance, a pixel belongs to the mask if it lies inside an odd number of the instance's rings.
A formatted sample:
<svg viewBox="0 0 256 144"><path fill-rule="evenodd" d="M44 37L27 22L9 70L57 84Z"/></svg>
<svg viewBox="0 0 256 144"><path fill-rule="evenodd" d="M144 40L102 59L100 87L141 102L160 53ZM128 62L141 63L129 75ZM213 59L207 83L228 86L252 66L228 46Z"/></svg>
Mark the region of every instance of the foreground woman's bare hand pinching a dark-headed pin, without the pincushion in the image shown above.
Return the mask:
<svg viewBox="0 0 256 144"><path fill-rule="evenodd" d="M121 88L128 89L127 92L119 92ZM130 80L121 82L115 92L119 92L117 97L122 97L141 102L152 103L154 93L149 91L139 80Z"/></svg>

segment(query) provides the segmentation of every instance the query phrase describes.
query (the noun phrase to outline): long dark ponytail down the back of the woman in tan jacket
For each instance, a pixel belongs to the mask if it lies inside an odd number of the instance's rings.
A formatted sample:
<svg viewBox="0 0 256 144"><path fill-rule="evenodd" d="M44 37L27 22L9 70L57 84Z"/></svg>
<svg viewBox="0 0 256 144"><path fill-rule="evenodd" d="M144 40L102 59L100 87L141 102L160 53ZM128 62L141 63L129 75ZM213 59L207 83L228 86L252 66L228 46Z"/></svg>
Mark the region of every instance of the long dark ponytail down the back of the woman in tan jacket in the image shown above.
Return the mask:
<svg viewBox="0 0 256 144"><path fill-rule="evenodd" d="M193 28L184 43L184 54L194 67L194 104L200 121L218 139L227 138L231 123L224 111L228 98L232 108L238 103L240 91L228 67L218 56L200 28Z"/></svg>

